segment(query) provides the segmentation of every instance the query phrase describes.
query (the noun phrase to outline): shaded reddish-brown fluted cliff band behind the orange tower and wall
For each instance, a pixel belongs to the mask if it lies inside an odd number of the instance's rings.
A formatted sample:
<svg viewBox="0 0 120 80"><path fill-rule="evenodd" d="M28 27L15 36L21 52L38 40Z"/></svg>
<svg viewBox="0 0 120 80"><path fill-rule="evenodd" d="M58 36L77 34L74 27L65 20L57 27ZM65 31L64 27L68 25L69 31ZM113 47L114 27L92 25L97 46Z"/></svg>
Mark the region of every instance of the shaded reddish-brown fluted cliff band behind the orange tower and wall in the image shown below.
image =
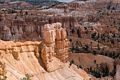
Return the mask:
<svg viewBox="0 0 120 80"><path fill-rule="evenodd" d="M44 14L44 13L43 13ZM11 17L12 16L12 17ZM74 26L73 17L45 15L2 15L0 16L0 39L5 41L41 40L45 24L61 22L62 27Z"/></svg>

